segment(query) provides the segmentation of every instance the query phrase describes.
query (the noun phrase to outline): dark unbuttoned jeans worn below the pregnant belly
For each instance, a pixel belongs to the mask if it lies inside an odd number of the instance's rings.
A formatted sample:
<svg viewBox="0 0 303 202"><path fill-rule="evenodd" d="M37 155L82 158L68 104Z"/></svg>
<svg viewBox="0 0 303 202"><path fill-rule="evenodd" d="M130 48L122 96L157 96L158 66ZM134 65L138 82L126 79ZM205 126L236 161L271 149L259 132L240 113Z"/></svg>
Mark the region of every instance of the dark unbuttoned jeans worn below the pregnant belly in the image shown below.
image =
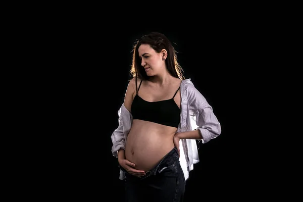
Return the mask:
<svg viewBox="0 0 303 202"><path fill-rule="evenodd" d="M184 192L185 178L177 148L173 148L144 177L138 178L125 172L126 202L181 202Z"/></svg>

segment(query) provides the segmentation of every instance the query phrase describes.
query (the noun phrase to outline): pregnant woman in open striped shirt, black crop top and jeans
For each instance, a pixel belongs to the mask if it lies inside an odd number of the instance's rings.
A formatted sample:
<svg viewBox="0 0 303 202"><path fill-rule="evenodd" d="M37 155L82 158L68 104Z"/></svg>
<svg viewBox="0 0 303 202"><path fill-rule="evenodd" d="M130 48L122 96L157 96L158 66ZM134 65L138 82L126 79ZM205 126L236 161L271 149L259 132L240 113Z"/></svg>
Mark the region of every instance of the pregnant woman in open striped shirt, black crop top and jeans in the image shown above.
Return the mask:
<svg viewBox="0 0 303 202"><path fill-rule="evenodd" d="M198 162L195 140L206 143L219 136L220 123L183 77L164 34L137 40L132 62L119 126L111 136L125 201L183 201L188 172Z"/></svg>

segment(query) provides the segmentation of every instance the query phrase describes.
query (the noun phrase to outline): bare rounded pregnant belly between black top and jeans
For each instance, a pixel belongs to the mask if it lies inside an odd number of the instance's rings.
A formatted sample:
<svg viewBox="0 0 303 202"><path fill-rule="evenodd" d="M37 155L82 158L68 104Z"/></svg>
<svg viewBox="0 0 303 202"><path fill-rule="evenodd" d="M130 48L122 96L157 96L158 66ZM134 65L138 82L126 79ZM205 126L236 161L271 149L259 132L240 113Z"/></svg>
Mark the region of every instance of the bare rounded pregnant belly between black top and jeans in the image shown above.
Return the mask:
<svg viewBox="0 0 303 202"><path fill-rule="evenodd" d="M133 120L125 146L125 157L135 169L150 171L174 148L177 128L149 121Z"/></svg>

